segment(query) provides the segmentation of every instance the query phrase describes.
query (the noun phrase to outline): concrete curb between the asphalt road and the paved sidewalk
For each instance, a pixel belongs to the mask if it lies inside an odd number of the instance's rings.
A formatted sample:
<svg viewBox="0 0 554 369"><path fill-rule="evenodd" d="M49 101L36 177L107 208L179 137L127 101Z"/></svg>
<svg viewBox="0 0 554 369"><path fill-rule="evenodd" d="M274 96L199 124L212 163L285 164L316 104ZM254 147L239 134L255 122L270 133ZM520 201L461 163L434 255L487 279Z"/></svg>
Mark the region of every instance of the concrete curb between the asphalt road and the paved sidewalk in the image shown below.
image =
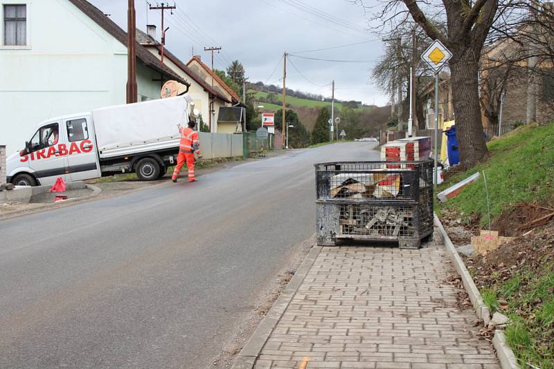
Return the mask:
<svg viewBox="0 0 554 369"><path fill-rule="evenodd" d="M300 267L298 267L298 270L296 270L296 274L294 274L287 287L285 287L285 290L283 290L277 301L271 306L262 323L258 325L258 328L256 328L247 344L240 350L231 369L251 369L254 367L258 355L262 352L267 339L269 339L269 335L273 332L285 310L287 310L289 303L292 301L296 291L298 291L298 287L304 281L305 276L310 272L310 268L314 265L319 252L321 252L321 247L312 247Z"/></svg>

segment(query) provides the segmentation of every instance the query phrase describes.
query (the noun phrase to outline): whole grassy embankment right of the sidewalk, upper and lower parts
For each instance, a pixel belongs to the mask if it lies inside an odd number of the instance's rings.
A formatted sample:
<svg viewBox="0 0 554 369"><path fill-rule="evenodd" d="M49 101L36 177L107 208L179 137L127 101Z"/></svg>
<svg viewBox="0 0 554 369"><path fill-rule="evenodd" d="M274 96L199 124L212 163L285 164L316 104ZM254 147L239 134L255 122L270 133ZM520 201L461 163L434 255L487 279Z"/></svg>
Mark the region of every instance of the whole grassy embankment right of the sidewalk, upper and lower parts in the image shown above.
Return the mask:
<svg viewBox="0 0 554 369"><path fill-rule="evenodd" d="M456 173L445 189L476 171L485 171L490 213L495 221L521 227L521 205L551 209L554 199L554 124L522 126L488 144L488 157L473 169ZM531 205L529 205L531 204ZM535 205L533 205L535 204ZM485 182L480 178L456 198L438 206L462 219L487 223ZM544 211L544 210L543 210ZM506 337L521 368L554 369L554 224L534 229L485 255L467 261L492 312L512 323ZM521 233L519 233L521 234ZM533 367L534 366L534 367Z"/></svg>

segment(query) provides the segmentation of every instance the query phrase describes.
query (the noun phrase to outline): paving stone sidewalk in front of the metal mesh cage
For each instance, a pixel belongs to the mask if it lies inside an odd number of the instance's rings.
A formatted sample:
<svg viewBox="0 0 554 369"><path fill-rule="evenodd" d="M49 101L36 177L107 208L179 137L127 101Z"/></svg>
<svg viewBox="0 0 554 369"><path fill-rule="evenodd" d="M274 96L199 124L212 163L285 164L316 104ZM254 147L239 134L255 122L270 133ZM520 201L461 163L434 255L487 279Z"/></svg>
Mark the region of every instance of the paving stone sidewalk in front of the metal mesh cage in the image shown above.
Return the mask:
<svg viewBox="0 0 554 369"><path fill-rule="evenodd" d="M323 247L256 369L499 369L443 245Z"/></svg>

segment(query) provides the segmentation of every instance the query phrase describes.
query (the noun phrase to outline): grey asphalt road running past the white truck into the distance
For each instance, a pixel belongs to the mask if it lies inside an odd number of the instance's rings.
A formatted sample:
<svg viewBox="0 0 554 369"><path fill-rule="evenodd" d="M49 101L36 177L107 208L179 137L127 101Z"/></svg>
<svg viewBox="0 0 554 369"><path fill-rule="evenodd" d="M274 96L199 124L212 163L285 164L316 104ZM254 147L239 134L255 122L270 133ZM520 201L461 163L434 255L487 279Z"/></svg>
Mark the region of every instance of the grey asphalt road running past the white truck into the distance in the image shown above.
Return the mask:
<svg viewBox="0 0 554 369"><path fill-rule="evenodd" d="M0 368L209 368L314 233L312 164L377 160L374 146L0 222Z"/></svg>

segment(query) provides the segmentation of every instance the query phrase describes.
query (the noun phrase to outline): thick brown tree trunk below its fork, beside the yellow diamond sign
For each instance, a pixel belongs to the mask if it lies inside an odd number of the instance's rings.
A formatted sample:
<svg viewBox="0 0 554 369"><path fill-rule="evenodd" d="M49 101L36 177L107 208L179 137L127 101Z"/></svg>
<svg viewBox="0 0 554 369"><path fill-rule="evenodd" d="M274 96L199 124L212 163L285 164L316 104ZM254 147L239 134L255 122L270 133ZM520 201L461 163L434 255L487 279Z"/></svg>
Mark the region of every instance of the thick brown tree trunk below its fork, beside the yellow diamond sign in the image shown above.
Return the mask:
<svg viewBox="0 0 554 369"><path fill-rule="evenodd" d="M472 55L468 55L472 54ZM479 53L465 50L465 55L454 57L449 63L452 73L454 120L460 147L460 160L464 168L474 167L487 153L479 104Z"/></svg>

